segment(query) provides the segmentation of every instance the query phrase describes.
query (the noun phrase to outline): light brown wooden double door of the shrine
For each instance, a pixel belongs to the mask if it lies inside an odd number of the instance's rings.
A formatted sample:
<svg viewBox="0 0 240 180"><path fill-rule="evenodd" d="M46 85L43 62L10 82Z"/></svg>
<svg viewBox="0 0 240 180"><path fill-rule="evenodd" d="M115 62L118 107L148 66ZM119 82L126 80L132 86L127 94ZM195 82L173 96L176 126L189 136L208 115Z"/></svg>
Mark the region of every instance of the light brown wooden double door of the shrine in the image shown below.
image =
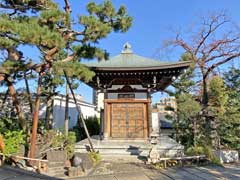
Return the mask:
<svg viewBox="0 0 240 180"><path fill-rule="evenodd" d="M144 103L112 103L111 136L130 139L146 137L144 108Z"/></svg>

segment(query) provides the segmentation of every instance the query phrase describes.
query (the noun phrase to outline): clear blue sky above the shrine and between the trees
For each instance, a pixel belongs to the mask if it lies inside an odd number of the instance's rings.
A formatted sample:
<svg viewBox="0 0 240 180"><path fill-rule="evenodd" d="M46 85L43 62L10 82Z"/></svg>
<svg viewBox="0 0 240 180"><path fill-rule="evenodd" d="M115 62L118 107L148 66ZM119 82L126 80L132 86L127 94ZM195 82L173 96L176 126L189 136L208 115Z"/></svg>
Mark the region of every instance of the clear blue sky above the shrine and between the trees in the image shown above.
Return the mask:
<svg viewBox="0 0 240 180"><path fill-rule="evenodd" d="M64 0L57 2L63 7ZM87 2L89 1L70 0L73 15L86 14ZM133 17L133 25L127 33L112 33L99 42L98 46L106 49L110 56L119 54L123 44L129 42L136 54L177 61L181 55L180 51L171 54L159 51L164 40L174 36L170 29L191 26L199 21L199 17L221 10L225 10L234 22L240 23L239 0L113 0L113 4L116 8L120 5L127 7L129 15ZM25 50L29 51L27 47ZM37 54L35 49L29 52L29 56L34 59L37 59ZM86 101L91 102L92 93L88 86L81 84L77 92L82 94ZM154 102L159 98L159 94L153 95Z"/></svg>

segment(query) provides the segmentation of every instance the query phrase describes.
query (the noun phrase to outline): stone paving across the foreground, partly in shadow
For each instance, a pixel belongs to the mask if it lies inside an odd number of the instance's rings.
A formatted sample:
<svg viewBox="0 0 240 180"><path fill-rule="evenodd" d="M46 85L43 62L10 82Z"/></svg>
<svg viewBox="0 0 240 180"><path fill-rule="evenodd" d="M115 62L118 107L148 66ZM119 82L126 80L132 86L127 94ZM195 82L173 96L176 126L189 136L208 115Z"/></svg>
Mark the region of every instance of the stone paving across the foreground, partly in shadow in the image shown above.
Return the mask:
<svg viewBox="0 0 240 180"><path fill-rule="evenodd" d="M0 180L56 180L56 178L0 167ZM142 163L101 162L88 176L68 180L240 180L240 163L157 170Z"/></svg>

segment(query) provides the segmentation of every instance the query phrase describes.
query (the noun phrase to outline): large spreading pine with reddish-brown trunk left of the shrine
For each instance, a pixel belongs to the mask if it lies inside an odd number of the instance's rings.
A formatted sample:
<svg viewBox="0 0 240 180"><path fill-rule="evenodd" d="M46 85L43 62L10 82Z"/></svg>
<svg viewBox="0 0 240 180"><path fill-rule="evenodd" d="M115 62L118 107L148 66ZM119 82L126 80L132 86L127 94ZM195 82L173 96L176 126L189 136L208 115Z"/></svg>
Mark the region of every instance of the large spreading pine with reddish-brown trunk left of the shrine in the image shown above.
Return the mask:
<svg viewBox="0 0 240 180"><path fill-rule="evenodd" d="M51 0L3 0L0 9L0 49L8 54L1 63L0 81L7 82L14 92L13 82L18 81L16 75L33 70L38 77L30 153L30 157L34 157L44 76L47 73L63 76L65 70L70 78L89 81L94 73L81 64L81 60L106 59L107 52L96 47L96 44L112 31L126 32L131 26L132 18L124 6L115 10L110 1L88 3L89 15L79 16L78 22L73 21L67 0L65 11ZM73 23L76 23L74 27ZM27 53L21 52L21 45L37 47L42 62L33 60L32 63L24 58ZM10 91L9 93L16 97ZM17 107L16 103L16 109ZM22 126L25 126L24 123Z"/></svg>

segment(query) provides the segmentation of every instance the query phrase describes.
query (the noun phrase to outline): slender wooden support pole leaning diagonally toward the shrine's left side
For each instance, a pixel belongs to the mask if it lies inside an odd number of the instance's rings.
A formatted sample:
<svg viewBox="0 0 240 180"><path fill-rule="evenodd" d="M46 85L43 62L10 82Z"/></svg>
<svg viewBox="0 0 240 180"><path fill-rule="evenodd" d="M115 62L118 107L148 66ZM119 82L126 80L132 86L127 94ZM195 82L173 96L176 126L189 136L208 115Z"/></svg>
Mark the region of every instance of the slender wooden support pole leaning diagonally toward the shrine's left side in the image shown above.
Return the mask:
<svg viewBox="0 0 240 180"><path fill-rule="evenodd" d="M65 75L65 78L66 78L68 87L69 87L69 89L70 89L70 91L71 91L71 94L72 94L72 96L73 96L73 100L74 100L74 102L75 102L75 104L76 104L77 111L78 111L78 113L79 113L79 115L80 115L80 119L81 119L81 122L82 122L82 124L83 124L84 131L85 131L85 133L86 133L86 135L87 135L87 139L88 139L90 148L91 148L92 152L95 152L95 150L94 150L94 148L93 148L93 144L92 144L91 138L90 138L89 133L88 133L87 126L86 126L85 121L84 121L84 118L83 118L83 114L82 114L82 111L81 111L81 107L79 107L78 104L77 104L77 100L76 100L75 94L74 94L74 92L73 92L73 89L72 89L72 87L71 87L71 83L70 83L70 81L69 81L69 79L68 79L68 75L67 75L66 71L63 70L63 73L64 73L64 75Z"/></svg>

